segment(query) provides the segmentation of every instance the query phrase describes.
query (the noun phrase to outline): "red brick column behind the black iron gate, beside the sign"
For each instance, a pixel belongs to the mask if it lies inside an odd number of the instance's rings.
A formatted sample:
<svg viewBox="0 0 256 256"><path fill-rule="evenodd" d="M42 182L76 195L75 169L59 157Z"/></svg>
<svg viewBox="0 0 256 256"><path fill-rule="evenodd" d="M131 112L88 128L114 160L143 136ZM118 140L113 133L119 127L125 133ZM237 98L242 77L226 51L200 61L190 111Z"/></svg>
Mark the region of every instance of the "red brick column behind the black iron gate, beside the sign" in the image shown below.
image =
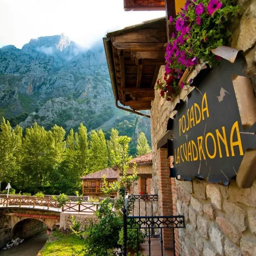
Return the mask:
<svg viewBox="0 0 256 256"><path fill-rule="evenodd" d="M172 184L169 169L169 158L167 159L167 149L159 148L158 156L158 177L159 177L159 192L158 201L160 215L173 215L172 210ZM164 248L173 248L172 229L163 229L163 244Z"/></svg>

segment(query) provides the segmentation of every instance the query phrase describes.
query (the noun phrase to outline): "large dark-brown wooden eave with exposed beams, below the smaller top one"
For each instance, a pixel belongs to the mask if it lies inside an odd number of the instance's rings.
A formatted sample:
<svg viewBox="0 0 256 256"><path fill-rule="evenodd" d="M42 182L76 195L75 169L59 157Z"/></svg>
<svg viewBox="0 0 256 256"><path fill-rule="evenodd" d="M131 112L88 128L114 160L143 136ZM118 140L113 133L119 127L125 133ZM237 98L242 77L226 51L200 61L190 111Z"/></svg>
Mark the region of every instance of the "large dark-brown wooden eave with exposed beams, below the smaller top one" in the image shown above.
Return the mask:
<svg viewBox="0 0 256 256"><path fill-rule="evenodd" d="M103 41L115 99L136 111L150 109L165 64L166 18L108 33Z"/></svg>

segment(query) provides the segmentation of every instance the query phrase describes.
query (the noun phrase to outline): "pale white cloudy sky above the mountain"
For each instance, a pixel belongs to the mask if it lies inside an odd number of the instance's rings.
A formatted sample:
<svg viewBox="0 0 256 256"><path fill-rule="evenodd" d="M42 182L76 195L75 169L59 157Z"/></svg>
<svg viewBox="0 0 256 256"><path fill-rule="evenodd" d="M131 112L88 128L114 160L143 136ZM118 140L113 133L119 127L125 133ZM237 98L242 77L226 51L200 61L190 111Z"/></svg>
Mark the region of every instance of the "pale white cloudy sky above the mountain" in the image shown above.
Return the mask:
<svg viewBox="0 0 256 256"><path fill-rule="evenodd" d="M64 33L89 48L107 32L163 16L125 12L123 0L0 0L0 47L22 48L31 38Z"/></svg>

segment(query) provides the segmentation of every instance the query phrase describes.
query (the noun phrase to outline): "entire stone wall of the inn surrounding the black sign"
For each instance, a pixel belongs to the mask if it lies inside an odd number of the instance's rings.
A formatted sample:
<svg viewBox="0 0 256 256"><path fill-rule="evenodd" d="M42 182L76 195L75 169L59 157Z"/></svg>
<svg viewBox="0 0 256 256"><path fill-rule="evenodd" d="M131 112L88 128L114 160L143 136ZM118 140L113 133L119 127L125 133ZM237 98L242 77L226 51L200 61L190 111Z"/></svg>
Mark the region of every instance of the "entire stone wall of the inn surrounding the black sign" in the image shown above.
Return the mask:
<svg viewBox="0 0 256 256"><path fill-rule="evenodd" d="M245 71L256 92L256 0L239 0L238 4L240 15L233 23L230 46L244 51ZM188 80L198 70L200 67L196 67ZM161 67L158 79L163 79L163 74L164 67ZM249 189L239 189L236 181L225 187L199 180L182 182L165 176L168 168L163 163L164 149L157 150L157 142L166 133L167 122L175 115L176 104L180 99L186 99L191 90L193 88L181 90L172 102L162 99L159 91L155 91L151 103L151 194L158 194L160 198L154 204L154 215L170 212L171 204L172 214L185 215L186 228L175 230L176 255L255 256L256 182ZM163 177L166 183L163 183ZM163 204L163 198L169 205Z"/></svg>

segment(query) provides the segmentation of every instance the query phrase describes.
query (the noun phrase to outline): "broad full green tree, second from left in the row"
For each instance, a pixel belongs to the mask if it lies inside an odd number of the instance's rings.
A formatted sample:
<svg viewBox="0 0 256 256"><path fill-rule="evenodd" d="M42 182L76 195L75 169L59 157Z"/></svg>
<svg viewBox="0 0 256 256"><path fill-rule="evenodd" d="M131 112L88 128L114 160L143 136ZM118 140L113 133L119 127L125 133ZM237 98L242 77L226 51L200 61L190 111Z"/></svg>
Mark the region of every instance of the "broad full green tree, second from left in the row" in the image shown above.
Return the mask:
<svg viewBox="0 0 256 256"><path fill-rule="evenodd" d="M26 128L22 147L23 169L30 186L44 189L49 184L51 174L64 160L64 134L63 128L57 125L49 132L37 123Z"/></svg>

